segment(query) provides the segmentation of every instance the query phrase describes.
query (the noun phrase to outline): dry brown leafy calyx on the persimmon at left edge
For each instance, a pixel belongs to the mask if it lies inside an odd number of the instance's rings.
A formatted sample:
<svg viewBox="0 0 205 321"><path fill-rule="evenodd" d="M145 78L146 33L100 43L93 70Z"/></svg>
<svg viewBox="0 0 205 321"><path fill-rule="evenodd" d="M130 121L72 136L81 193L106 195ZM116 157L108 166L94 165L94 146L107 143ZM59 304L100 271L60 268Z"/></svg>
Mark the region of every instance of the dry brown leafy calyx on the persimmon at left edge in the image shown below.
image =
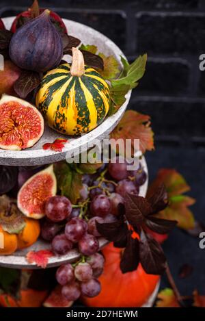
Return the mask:
<svg viewBox="0 0 205 321"><path fill-rule="evenodd" d="M25 228L25 220L16 201L6 195L0 196L0 225L10 234L18 234Z"/></svg>

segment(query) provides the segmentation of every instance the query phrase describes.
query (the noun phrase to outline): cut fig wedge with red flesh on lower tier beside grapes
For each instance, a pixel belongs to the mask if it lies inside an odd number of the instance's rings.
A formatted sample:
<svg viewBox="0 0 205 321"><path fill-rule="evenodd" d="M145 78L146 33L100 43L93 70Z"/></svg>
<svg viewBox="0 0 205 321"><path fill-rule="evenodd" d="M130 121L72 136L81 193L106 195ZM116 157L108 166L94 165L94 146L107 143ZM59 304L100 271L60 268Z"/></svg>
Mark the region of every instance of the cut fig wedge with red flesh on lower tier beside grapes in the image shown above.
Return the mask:
<svg viewBox="0 0 205 321"><path fill-rule="evenodd" d="M44 204L56 192L57 182L51 165L23 184L18 191L18 209L25 216L38 220L44 216Z"/></svg>

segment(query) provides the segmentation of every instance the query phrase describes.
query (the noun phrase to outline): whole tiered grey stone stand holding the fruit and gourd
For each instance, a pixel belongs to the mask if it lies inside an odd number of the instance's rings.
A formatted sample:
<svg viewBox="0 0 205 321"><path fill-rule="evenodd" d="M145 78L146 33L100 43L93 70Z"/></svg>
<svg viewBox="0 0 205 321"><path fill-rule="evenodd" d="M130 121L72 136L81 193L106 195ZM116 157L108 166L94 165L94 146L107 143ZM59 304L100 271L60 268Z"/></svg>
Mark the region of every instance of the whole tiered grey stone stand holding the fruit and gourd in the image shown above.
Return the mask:
<svg viewBox="0 0 205 321"><path fill-rule="evenodd" d="M3 18L3 22L5 23L5 27L10 29L10 25L12 24L13 17ZM64 20L66 27L68 29L68 33L72 36L78 37L82 40L84 44L95 44L98 47L100 52L105 53L105 55L114 55L119 63L120 63L120 55L123 55L122 51L114 44L109 38L100 34L98 31L87 27L85 25L81 25L80 23L76 23L74 21ZM70 61L70 57L65 57L66 60ZM66 153L77 153L81 151L81 149L85 149L87 143L94 144L96 140L102 140L106 138L109 133L115 128L115 126L119 123L122 118L126 107L128 105L128 101L130 100L131 92L128 92L126 96L126 102L118 112L116 112L113 116L109 116L105 119L105 121L98 126L96 129L87 133L79 138L70 138L68 137L68 143L64 147L62 152L54 152L54 151L44 151L42 149L42 145L45 142L53 142L56 138L63 137L59 133L53 131L49 127L45 128L44 135L31 149L27 149L25 151L3 151L0 150L0 164L7 166L41 166L45 164L51 164L55 162L59 162L63 159L66 159ZM147 174L148 168L146 166L146 160L142 158L142 165L144 166ZM140 195L145 196L148 187L148 180L144 185L140 188ZM100 247L102 248L107 244L107 240L101 238L100 239ZM28 249L23 251L16 251L13 255L9 256L0 256L0 266L5 266L8 268L38 268L36 264L29 264L26 259L26 254L28 251L39 251L40 249L50 248L51 244L47 244L46 242L39 240L36 244L33 244ZM59 266L64 263L76 261L79 258L79 253L77 250L72 250L67 255L55 256L49 259L48 268L53 266ZM153 294L154 295L154 294ZM155 296L155 295L154 295ZM152 299L153 300L153 299ZM148 303L150 305L150 303ZM148 306L146 305L146 306Z"/></svg>

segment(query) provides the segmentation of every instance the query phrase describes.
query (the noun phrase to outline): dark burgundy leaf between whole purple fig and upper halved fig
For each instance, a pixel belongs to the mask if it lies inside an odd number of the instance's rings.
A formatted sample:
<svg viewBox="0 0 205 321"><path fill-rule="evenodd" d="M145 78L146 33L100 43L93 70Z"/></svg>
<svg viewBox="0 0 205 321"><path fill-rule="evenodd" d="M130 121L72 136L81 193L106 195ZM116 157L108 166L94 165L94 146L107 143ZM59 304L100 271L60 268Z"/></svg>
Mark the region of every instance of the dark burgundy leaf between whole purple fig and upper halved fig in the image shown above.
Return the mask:
<svg viewBox="0 0 205 321"><path fill-rule="evenodd" d="M23 70L14 83L14 90L20 98L26 98L27 95L40 85L41 77L39 73L31 70Z"/></svg>

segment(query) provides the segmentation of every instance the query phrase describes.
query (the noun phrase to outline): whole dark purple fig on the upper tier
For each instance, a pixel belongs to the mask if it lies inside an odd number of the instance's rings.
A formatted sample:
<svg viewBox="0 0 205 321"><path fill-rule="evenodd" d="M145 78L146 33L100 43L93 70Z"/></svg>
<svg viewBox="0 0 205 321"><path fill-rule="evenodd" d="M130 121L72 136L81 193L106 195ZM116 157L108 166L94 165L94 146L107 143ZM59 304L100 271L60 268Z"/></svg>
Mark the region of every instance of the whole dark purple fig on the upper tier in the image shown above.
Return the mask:
<svg viewBox="0 0 205 321"><path fill-rule="evenodd" d="M55 68L63 56L61 35L45 10L17 29L10 42L10 59L18 67L44 72Z"/></svg>

